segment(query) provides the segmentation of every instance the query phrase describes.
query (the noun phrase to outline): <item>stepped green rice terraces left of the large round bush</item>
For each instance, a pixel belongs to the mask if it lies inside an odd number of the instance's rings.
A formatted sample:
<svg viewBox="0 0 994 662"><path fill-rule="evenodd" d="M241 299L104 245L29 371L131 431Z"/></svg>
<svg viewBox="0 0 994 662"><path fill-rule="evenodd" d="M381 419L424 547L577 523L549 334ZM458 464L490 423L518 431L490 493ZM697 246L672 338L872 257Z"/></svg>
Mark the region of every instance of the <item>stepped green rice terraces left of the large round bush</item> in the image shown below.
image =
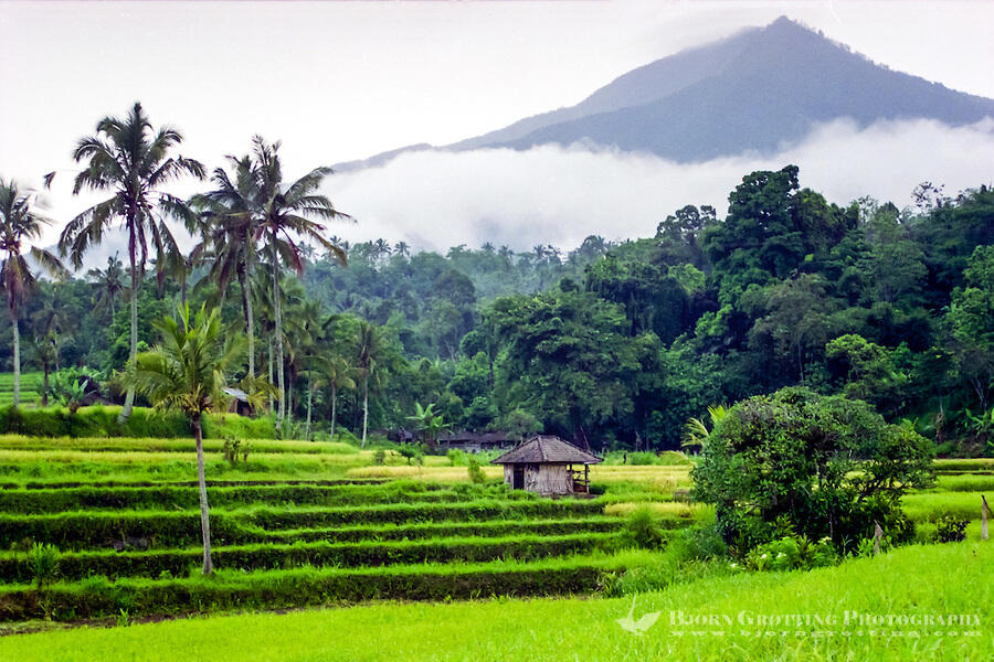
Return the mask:
<svg viewBox="0 0 994 662"><path fill-rule="evenodd" d="M252 441L234 466L205 446L212 578L200 576L191 441L0 437L0 621L588 594L628 563L624 491L540 499L469 484L444 458L372 466L374 451L345 444ZM686 482L686 468L657 469L659 485ZM669 505L670 530L701 514ZM41 589L36 542L60 551Z"/></svg>

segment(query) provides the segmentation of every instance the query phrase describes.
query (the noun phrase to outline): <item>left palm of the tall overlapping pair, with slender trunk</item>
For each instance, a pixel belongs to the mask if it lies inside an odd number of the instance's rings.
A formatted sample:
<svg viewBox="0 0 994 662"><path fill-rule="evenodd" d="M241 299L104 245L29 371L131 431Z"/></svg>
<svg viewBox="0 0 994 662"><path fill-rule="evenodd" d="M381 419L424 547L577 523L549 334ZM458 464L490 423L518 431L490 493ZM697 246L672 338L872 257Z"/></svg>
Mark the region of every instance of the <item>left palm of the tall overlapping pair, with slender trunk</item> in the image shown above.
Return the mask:
<svg viewBox="0 0 994 662"><path fill-rule="evenodd" d="M255 378L255 319L252 309L252 267L255 264L255 173L248 156L226 157L233 177L223 168L214 169L213 191L194 195L190 204L200 210L204 220L204 241L198 247L211 253L208 282L218 286L223 298L232 280L237 280L242 293L242 313L248 337L248 376Z"/></svg>

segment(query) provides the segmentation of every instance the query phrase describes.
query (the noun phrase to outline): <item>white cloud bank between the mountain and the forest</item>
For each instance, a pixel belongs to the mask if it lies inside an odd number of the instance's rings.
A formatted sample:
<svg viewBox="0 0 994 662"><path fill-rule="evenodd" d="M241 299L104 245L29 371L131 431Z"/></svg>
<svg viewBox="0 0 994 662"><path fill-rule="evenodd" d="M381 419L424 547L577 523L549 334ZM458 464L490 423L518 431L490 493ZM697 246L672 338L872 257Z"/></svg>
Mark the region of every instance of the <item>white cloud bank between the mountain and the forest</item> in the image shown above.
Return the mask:
<svg viewBox="0 0 994 662"><path fill-rule="evenodd" d="M840 120L775 154L691 164L583 145L419 152L332 175L325 192L358 218L331 228L350 241L384 237L440 250L484 242L570 248L591 234L651 236L685 204L722 214L744 174L787 163L801 168L803 186L831 202L873 195L905 206L921 181L944 183L948 193L994 181L994 121L961 128L887 121L860 130Z"/></svg>

